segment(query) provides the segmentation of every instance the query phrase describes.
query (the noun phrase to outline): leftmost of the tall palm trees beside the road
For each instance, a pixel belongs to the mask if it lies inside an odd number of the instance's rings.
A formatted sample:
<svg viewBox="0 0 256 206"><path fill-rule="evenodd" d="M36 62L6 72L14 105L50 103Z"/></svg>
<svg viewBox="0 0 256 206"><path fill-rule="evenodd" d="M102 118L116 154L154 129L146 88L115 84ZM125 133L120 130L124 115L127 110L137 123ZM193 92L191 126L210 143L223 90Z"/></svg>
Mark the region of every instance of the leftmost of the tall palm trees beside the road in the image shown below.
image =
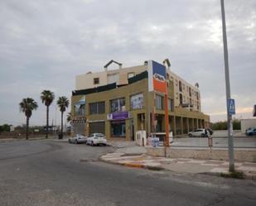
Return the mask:
<svg viewBox="0 0 256 206"><path fill-rule="evenodd" d="M33 98L23 98L22 102L19 103L20 110L22 113L25 113L27 117L27 126L26 126L26 139L28 139L28 126L29 126L29 118L32 115L32 111L38 108L36 101Z"/></svg>

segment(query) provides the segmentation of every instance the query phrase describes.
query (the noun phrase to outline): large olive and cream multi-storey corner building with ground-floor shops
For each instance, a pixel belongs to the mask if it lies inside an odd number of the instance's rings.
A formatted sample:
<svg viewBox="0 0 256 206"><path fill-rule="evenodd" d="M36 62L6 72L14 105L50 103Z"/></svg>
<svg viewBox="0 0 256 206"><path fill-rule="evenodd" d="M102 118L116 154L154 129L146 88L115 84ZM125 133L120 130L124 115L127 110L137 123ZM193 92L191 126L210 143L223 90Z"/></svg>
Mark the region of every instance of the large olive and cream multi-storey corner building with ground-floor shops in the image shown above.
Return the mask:
<svg viewBox="0 0 256 206"><path fill-rule="evenodd" d="M109 70L113 63L119 68ZM208 127L210 117L201 113L198 84L192 86L173 74L168 60L163 64L145 61L143 65L122 68L122 64L111 60L102 72L76 76L71 98L73 132L102 132L109 139L126 140L134 140L139 130L147 134L164 132L164 95L155 89L156 78L167 85L169 128L174 135ZM165 74L154 73L153 78L154 66L164 69Z"/></svg>

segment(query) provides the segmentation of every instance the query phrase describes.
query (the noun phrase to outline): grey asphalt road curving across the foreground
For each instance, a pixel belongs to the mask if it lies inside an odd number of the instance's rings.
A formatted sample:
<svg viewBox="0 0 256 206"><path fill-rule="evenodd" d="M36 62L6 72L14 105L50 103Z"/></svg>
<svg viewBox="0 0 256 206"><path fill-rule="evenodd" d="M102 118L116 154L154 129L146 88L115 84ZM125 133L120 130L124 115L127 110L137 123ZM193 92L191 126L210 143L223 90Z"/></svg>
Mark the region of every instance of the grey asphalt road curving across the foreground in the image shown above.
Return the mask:
<svg viewBox="0 0 256 206"><path fill-rule="evenodd" d="M0 205L256 205L256 181L108 165L110 146L0 142Z"/></svg>

